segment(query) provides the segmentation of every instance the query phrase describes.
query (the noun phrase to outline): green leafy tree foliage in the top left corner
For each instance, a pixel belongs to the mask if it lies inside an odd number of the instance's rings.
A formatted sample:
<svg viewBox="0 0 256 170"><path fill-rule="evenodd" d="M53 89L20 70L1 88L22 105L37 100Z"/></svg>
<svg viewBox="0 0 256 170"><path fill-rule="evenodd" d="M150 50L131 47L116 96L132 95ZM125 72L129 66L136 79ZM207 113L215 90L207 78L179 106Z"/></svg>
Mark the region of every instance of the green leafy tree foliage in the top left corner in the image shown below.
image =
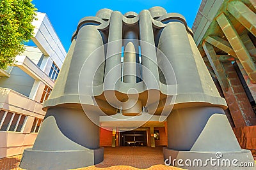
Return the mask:
<svg viewBox="0 0 256 170"><path fill-rule="evenodd" d="M33 35L36 16L31 0L0 0L0 68L13 64Z"/></svg>

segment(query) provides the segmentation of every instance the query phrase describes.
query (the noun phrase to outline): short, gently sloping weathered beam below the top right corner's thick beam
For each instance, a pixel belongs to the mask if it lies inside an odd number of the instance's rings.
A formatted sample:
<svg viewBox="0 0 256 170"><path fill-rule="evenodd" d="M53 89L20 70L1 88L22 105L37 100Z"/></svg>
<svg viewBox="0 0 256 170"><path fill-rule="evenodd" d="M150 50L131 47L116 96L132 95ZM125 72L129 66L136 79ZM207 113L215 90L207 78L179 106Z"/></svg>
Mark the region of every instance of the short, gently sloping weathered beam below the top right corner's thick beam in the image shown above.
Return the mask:
<svg viewBox="0 0 256 170"><path fill-rule="evenodd" d="M218 36L207 36L207 38L205 38L205 41L207 41L207 43L210 43L211 45L216 46L223 52L226 52L232 55L233 57L237 58L236 53L232 49L231 45L225 39L222 39Z"/></svg>

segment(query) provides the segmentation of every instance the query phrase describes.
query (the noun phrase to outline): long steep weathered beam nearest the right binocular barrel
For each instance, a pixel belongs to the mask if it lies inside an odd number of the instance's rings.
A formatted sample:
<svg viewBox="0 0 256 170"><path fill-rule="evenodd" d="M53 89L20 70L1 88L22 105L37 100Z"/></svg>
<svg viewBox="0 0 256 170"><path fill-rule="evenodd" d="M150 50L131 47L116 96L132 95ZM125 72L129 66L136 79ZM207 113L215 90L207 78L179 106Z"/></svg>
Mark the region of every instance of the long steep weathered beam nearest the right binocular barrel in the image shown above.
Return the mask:
<svg viewBox="0 0 256 170"><path fill-rule="evenodd" d="M221 66L221 62L214 51L214 48L211 44L207 42L203 42L203 48L206 53L207 59L209 60L211 67L220 83L221 89L227 91L228 90L228 80L225 74L223 67Z"/></svg>

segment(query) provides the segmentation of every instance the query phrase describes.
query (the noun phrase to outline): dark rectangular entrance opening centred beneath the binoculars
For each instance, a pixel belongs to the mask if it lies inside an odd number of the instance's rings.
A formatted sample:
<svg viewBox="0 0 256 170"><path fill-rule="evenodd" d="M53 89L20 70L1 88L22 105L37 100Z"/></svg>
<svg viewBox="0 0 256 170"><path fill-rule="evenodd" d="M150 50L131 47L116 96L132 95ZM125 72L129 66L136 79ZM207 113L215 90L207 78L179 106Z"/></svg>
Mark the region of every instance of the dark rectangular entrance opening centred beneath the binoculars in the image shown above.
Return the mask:
<svg viewBox="0 0 256 170"><path fill-rule="evenodd" d="M120 146L147 146L147 131L120 132Z"/></svg>

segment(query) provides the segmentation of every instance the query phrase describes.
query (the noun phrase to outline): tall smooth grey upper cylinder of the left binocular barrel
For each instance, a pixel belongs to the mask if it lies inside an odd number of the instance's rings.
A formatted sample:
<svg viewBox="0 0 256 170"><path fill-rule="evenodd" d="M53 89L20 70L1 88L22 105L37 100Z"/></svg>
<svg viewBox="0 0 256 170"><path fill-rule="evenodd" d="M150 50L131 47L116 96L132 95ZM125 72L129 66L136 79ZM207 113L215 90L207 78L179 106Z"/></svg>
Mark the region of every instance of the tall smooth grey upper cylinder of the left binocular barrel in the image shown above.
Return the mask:
<svg viewBox="0 0 256 170"><path fill-rule="evenodd" d="M68 57L67 60L68 71L66 73L60 71L59 81L57 80L54 85L55 87L60 86L60 89L54 88L52 94L58 95L60 90L63 90L64 96L76 95L78 98L79 94L88 95L91 93L92 86L103 83L104 47L102 36L95 25L81 27L76 41L72 42L72 45L74 45L74 52L71 50L70 55L72 56ZM81 70L85 69L84 67L86 67L86 71L81 73ZM79 85L80 87L83 85L83 88L78 89ZM70 98L67 97L66 101L68 99Z"/></svg>

